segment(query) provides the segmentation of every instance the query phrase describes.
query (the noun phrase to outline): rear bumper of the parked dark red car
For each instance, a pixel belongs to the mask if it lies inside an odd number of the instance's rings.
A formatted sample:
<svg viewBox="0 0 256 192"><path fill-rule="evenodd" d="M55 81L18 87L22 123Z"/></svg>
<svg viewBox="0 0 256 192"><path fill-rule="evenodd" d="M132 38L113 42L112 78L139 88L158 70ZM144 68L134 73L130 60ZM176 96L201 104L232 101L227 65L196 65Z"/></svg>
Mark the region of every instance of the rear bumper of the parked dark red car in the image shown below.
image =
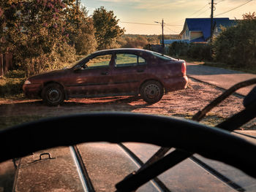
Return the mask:
<svg viewBox="0 0 256 192"><path fill-rule="evenodd" d="M188 82L189 82L189 80L188 80L187 76L165 79L165 80L163 80L163 85L165 87L165 93L187 88Z"/></svg>

